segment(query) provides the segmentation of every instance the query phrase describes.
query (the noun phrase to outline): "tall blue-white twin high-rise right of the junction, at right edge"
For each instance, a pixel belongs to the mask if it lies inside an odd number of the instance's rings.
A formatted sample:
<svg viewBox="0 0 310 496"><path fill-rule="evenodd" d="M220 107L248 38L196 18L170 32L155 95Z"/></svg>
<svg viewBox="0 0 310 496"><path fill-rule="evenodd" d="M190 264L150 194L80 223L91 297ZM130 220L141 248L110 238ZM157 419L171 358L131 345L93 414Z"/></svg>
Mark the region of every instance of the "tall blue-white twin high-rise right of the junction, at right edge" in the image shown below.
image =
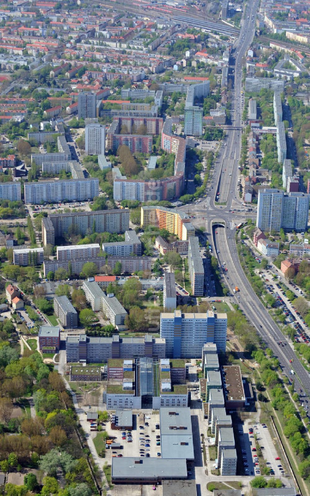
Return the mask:
<svg viewBox="0 0 310 496"><path fill-rule="evenodd" d="M256 227L261 231L307 231L308 215L308 194L273 188L258 191Z"/></svg>

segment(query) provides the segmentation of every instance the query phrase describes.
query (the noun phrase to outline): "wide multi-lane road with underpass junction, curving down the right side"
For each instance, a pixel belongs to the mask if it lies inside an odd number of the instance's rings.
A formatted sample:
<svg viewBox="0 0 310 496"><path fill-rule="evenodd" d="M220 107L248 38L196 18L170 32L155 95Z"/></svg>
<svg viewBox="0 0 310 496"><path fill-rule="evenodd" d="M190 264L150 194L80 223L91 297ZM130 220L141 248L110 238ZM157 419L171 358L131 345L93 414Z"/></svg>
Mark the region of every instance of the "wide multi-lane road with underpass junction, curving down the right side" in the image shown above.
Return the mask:
<svg viewBox="0 0 310 496"><path fill-rule="evenodd" d="M242 65L248 47L253 39L258 1L248 2L240 31L239 38L233 48L232 57L234 66L234 85L232 90L232 119L234 128L227 130L220 153L217 158L211 189L207 191L208 201L202 199L195 205L186 205L182 210L196 214L194 223L200 224L202 217L205 219L206 232L213 243L214 254L218 256L219 263L225 261L227 272L224 273L227 285L232 289L238 286L240 292L234 296L236 303L245 312L249 321L256 327L262 340L278 357L283 371L289 375L291 369L295 371L295 387L310 394L310 376L295 355L293 347L287 342L279 327L270 317L259 298L254 293L244 274L238 258L235 225L241 222L242 217L252 216L252 213L232 213L232 210L241 209L238 199L238 161L241 153L243 95L242 91ZM237 129L235 128L237 127ZM213 188L212 188L213 186ZM218 199L216 199L217 193ZM220 205L225 203L225 205ZM236 221L236 216L238 221ZM217 234L216 234L217 233ZM284 347L279 346L279 341L286 342ZM289 360L294 360L291 364Z"/></svg>

